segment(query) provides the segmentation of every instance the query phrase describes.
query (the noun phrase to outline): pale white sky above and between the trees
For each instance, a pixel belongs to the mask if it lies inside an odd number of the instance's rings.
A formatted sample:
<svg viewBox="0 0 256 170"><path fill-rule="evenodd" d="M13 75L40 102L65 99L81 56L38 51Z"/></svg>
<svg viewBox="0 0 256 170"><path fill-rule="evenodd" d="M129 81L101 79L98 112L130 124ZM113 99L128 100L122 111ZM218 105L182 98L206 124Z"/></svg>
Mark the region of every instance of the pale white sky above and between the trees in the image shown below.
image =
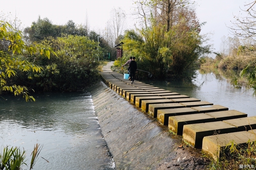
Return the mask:
<svg viewBox="0 0 256 170"><path fill-rule="evenodd" d="M212 44L216 52L220 51L221 37L229 34L228 27L232 26L234 15L239 15L241 9L245 9L245 3L249 0L195 0L197 17L200 22L206 22L201 29L201 34L210 33L209 44ZM252 1L252 0L251 0ZM110 19L110 12L113 8L121 7L127 16L127 28L134 28L136 20L132 16L133 0L12 0L2 1L0 13L11 12L13 16L22 21L24 27L31 26L33 21L47 17L56 25L64 25L68 20L76 24L85 24L86 20L90 30L102 30ZM240 9L241 8L241 9ZM240 12L241 13L241 12ZM2 15L0 14L0 16Z"/></svg>

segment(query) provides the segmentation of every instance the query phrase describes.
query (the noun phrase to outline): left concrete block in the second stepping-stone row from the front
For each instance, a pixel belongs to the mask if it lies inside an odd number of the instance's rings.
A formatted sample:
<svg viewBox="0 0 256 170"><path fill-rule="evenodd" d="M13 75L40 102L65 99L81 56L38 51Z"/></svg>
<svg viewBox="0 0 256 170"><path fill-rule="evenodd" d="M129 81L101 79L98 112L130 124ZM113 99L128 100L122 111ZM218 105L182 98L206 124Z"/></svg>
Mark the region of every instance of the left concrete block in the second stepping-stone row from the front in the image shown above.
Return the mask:
<svg viewBox="0 0 256 170"><path fill-rule="evenodd" d="M236 131L236 127L230 126L230 124L222 121L184 125L183 140L196 148L201 148L205 136L232 133Z"/></svg>

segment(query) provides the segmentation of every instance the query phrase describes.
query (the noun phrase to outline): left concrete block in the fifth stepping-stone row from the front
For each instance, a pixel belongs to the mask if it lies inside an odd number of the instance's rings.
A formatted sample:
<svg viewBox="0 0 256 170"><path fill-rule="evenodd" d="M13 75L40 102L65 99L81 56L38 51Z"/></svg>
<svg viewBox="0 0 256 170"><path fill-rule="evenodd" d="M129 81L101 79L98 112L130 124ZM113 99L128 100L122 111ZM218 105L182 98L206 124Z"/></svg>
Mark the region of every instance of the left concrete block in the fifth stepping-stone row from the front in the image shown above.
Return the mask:
<svg viewBox="0 0 256 170"><path fill-rule="evenodd" d="M150 104L148 105L148 114L154 118L157 117L158 110L163 110L163 112L172 112L173 108L185 107L179 103L167 103L167 104Z"/></svg>

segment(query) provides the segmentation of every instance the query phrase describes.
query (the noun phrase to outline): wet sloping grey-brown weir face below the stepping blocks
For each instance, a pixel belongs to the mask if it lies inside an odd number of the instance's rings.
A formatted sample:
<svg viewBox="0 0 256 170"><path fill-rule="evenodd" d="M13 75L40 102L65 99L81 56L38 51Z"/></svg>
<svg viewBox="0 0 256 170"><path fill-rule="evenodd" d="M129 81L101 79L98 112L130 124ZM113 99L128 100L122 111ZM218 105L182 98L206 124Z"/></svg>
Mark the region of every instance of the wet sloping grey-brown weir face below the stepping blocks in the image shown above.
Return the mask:
<svg viewBox="0 0 256 170"><path fill-rule="evenodd" d="M88 89L115 169L206 169L200 150L140 111L103 82Z"/></svg>

